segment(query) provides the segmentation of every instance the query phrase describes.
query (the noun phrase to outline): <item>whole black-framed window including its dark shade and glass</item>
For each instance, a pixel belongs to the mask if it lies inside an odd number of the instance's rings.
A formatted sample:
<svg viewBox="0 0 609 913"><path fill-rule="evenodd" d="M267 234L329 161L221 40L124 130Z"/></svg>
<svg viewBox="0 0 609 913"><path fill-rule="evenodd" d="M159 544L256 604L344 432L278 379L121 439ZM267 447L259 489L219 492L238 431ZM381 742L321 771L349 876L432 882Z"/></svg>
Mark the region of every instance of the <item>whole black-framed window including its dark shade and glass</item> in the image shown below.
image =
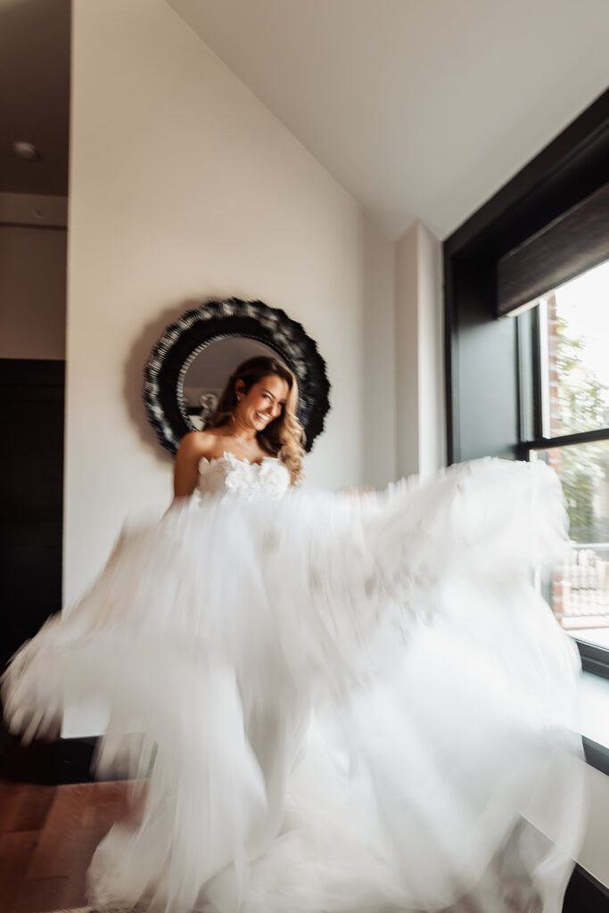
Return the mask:
<svg viewBox="0 0 609 913"><path fill-rule="evenodd" d="M609 260L609 89L458 226L443 254L448 462L545 459L563 483L584 473L587 487L569 494L572 555L548 595L578 639L584 669L609 677L609 611L600 598L609 422L597 356L598 341L609 343L609 295L606 287L596 303L578 295L575 322L565 298L567 284L575 289ZM559 332L572 341L561 342L561 365L551 348Z"/></svg>

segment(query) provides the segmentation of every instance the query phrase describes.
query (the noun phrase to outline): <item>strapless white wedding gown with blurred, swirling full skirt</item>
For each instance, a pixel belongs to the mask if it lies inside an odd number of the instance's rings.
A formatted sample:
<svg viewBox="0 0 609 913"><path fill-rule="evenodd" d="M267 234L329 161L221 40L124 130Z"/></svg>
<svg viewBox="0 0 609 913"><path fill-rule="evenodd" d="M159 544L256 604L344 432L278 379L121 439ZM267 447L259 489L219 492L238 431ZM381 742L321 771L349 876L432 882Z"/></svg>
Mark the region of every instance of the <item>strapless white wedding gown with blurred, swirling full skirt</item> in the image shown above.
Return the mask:
<svg viewBox="0 0 609 913"><path fill-rule="evenodd" d="M541 465L382 494L226 454L121 535L16 655L29 734L103 701L98 763L146 780L93 902L172 913L558 913L583 826L579 661L532 582L565 540Z"/></svg>

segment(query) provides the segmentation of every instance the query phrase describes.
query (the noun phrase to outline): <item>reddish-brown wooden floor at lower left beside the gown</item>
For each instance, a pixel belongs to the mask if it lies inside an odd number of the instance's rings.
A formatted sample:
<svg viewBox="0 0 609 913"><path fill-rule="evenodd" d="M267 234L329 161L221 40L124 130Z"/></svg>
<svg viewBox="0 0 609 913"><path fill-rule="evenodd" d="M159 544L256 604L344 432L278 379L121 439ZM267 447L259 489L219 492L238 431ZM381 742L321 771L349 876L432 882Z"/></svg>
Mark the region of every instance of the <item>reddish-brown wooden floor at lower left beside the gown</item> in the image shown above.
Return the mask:
<svg viewBox="0 0 609 913"><path fill-rule="evenodd" d="M91 855L126 794L121 782L0 782L0 913L84 907Z"/></svg>

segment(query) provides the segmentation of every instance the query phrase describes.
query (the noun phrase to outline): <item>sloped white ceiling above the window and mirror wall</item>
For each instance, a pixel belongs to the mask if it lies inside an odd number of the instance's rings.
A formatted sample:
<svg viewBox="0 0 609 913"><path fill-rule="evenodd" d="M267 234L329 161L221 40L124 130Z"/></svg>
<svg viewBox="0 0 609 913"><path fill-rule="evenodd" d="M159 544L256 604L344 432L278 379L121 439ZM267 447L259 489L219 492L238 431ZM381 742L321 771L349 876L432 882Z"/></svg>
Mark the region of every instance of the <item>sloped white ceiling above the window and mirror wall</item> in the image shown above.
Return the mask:
<svg viewBox="0 0 609 913"><path fill-rule="evenodd" d="M167 0L400 236L446 237L609 85L609 0Z"/></svg>

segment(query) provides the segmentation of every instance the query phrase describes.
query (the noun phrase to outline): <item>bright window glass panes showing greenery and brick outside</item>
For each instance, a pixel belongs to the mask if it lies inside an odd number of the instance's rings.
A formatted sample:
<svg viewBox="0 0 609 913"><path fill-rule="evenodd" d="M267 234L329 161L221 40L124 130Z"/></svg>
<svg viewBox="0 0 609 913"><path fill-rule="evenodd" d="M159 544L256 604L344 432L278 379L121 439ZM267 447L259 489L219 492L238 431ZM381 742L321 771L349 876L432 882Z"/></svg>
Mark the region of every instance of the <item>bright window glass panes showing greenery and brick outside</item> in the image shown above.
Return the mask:
<svg viewBox="0 0 609 913"><path fill-rule="evenodd" d="M545 294L518 321L519 456L554 469L570 519L571 548L548 599L609 675L609 261Z"/></svg>

